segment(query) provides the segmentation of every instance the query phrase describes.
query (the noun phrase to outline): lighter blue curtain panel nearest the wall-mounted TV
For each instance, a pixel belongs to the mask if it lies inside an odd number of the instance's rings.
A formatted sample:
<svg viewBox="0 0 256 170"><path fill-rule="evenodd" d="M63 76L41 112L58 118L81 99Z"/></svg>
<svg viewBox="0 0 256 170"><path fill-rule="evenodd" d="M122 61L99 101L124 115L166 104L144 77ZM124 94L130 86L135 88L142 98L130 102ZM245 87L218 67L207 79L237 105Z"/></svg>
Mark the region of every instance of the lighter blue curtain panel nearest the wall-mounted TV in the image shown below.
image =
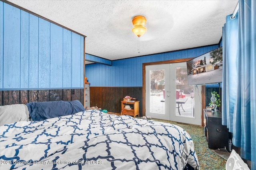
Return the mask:
<svg viewBox="0 0 256 170"><path fill-rule="evenodd" d="M227 125L229 131L233 132L234 105L238 88L238 14L236 14L234 19L231 19L231 16L226 16L226 23L224 24L222 33L222 112L225 113L226 110L226 114L222 114L222 124Z"/></svg>

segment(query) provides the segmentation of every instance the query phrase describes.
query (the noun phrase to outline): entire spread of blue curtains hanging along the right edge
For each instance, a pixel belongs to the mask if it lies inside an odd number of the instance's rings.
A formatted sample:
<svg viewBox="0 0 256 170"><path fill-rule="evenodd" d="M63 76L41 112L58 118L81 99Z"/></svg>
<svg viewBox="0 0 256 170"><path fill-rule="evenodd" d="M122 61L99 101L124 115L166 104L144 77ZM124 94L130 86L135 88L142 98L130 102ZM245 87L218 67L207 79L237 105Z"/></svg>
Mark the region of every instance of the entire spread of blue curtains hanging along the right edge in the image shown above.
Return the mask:
<svg viewBox="0 0 256 170"><path fill-rule="evenodd" d="M236 18L230 16L222 33L222 124L256 169L256 1L239 0Z"/></svg>

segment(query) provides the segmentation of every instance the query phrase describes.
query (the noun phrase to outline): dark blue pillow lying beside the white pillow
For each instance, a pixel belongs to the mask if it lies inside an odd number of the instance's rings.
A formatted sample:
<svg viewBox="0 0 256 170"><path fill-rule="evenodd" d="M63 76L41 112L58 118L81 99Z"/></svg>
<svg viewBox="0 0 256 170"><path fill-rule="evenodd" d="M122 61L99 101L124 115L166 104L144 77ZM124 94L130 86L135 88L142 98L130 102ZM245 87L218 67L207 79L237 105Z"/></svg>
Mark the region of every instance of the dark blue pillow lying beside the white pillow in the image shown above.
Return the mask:
<svg viewBox="0 0 256 170"><path fill-rule="evenodd" d="M79 100L52 101L52 102L30 102L28 106L29 115L33 121L42 121L53 117L66 116L84 111L84 106Z"/></svg>

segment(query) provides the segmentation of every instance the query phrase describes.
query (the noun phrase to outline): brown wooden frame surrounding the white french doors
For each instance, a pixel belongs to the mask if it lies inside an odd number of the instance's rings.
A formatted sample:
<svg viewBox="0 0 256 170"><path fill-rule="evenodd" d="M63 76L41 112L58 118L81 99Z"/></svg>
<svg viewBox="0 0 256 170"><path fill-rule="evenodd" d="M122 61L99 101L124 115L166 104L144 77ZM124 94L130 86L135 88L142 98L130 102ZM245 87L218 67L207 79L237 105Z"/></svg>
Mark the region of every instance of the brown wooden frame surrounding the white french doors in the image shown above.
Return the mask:
<svg viewBox="0 0 256 170"><path fill-rule="evenodd" d="M186 59L176 59L176 60L168 60L168 61L157 61L157 62L151 62L151 63L142 63L142 115L146 115L146 66L148 65L157 65L157 64L171 64L171 63L183 63L187 62L192 58L186 58ZM201 111L201 120L202 120L202 126L204 125L204 111L203 108L205 108L205 86L202 86L202 111Z"/></svg>

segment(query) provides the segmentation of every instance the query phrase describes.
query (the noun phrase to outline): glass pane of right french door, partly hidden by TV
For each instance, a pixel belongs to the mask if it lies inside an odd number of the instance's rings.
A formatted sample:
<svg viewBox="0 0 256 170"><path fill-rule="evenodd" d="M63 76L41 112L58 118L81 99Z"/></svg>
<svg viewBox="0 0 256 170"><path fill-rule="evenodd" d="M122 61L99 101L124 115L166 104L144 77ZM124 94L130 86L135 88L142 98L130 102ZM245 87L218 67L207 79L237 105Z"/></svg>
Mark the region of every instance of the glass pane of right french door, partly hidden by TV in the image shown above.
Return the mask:
<svg viewBox="0 0 256 170"><path fill-rule="evenodd" d="M194 117L194 85L188 86L187 68L176 68L176 115Z"/></svg>

